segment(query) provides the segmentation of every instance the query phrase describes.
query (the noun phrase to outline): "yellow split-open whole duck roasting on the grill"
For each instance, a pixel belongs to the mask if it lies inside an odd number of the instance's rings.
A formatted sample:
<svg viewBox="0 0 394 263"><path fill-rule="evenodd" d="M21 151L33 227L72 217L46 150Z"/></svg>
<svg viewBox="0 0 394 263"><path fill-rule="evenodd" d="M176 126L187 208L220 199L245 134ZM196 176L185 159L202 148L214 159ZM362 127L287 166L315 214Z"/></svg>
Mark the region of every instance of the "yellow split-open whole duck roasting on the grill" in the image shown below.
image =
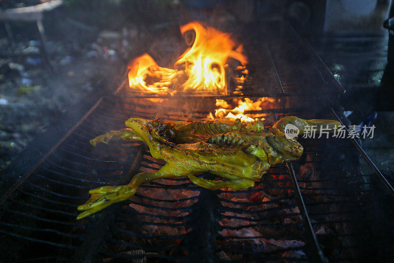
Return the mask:
<svg viewBox="0 0 394 263"><path fill-rule="evenodd" d="M332 120L303 120L285 117L269 130L261 121L241 123L235 121L162 122L130 118L128 128L109 131L91 140L107 144L111 140L140 140L145 142L154 158L166 164L154 173L136 174L125 186L92 189L91 198L78 210L77 219L92 215L105 207L130 198L141 185L161 178L188 177L194 184L208 189L246 189L254 186L271 165L296 160L303 148L295 139L286 139L286 124L293 124L303 133L305 125L340 123ZM223 181L206 180L198 174L210 172Z"/></svg>

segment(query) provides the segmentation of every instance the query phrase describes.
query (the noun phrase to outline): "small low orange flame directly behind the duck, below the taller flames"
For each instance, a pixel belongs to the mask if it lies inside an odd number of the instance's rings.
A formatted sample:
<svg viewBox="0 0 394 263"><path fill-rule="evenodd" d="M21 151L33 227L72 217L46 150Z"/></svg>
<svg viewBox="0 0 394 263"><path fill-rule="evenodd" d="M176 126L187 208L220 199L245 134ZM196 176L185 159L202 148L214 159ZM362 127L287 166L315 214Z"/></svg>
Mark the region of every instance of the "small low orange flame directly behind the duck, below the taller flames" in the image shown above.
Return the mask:
<svg viewBox="0 0 394 263"><path fill-rule="evenodd" d="M245 111L261 111L263 108L272 108L272 105L276 105L276 99L263 97L259 98L256 102L253 102L249 98L234 99L238 105L232 108L225 100L217 99L216 107L220 107L215 110L215 114L209 113L207 119L225 118L235 120L241 119L243 122L254 122L257 119L264 120L266 113L258 114L245 114Z"/></svg>

